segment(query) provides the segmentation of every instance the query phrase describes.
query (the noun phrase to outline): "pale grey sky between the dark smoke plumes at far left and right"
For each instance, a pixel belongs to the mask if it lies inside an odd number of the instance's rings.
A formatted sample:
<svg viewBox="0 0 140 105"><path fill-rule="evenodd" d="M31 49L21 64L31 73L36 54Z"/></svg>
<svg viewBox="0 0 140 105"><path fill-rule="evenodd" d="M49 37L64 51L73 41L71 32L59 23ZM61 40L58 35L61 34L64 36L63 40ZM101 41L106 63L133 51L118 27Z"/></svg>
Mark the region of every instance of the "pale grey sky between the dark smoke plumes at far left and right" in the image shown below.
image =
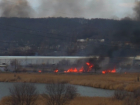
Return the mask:
<svg viewBox="0 0 140 105"><path fill-rule="evenodd" d="M0 0L0 1L4 2L7 1L6 3L8 3L11 1L13 2L23 0ZM124 17L134 16L135 12L133 8L135 7L136 1L139 0L27 0L27 1L31 6L31 8L34 10L30 12L31 14L33 14L31 15L31 17L34 18L82 17L90 19L91 18L121 19ZM22 3L20 5L22 5ZM0 7L2 6L0 5ZM26 6L24 10L25 9L27 10ZM9 9L9 11L12 10ZM13 9L13 11L15 10ZM10 14L12 13L13 12L11 12Z"/></svg>

